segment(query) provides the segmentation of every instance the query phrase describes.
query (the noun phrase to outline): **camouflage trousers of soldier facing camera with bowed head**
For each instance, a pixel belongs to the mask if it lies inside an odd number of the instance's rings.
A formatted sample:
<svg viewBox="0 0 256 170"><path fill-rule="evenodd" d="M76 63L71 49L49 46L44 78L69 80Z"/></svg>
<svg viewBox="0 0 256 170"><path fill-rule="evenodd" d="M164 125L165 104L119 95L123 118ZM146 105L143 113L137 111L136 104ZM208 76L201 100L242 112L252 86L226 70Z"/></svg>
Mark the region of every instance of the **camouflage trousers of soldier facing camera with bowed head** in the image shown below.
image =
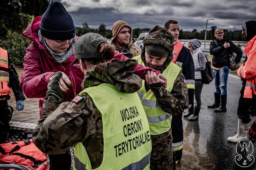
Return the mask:
<svg viewBox="0 0 256 170"><path fill-rule="evenodd" d="M151 142L150 170L172 170L172 130L151 135Z"/></svg>

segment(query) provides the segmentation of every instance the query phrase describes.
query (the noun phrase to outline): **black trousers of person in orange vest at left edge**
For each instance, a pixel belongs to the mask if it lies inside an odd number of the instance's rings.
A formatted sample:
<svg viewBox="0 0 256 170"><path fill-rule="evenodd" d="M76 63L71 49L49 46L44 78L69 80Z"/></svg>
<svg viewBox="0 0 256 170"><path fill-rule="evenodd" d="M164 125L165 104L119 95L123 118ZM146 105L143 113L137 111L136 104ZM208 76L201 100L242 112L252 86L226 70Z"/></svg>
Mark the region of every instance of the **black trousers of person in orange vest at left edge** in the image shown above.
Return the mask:
<svg viewBox="0 0 256 170"><path fill-rule="evenodd" d="M13 108L8 105L7 100L0 100L0 143L4 143L7 140L12 113Z"/></svg>

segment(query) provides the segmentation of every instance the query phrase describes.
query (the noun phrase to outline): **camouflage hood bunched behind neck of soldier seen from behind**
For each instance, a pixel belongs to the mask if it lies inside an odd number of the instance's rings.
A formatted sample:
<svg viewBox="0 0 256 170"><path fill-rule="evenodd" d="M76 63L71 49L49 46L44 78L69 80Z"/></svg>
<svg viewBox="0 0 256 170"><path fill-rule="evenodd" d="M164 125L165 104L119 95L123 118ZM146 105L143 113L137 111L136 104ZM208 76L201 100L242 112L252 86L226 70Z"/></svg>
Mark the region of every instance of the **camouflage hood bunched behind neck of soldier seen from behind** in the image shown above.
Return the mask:
<svg viewBox="0 0 256 170"><path fill-rule="evenodd" d="M95 65L84 76L82 87L111 83L123 93L135 93L142 87L141 78L133 74L137 60L115 60Z"/></svg>

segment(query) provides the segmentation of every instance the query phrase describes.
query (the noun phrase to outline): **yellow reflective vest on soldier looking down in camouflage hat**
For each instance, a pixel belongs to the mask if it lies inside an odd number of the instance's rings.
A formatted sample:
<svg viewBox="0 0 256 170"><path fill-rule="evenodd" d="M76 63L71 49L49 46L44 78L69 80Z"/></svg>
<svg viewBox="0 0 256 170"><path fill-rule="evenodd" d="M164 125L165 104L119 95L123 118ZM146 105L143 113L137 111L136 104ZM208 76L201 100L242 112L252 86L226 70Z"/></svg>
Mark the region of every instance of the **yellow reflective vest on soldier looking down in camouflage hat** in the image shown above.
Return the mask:
<svg viewBox="0 0 256 170"><path fill-rule="evenodd" d="M133 57L133 59L138 60L138 63L145 66L141 60L141 56ZM163 71L163 75L167 77L167 90L172 91L173 83L179 75L181 68L171 62L168 67ZM143 108L147 114L148 123L150 127L151 135L158 135L167 132L171 128L172 115L164 112L159 106L157 99L155 98L153 92L145 89L145 81L142 80L142 87L138 90L138 95L141 99ZM143 94L143 95L142 95Z"/></svg>

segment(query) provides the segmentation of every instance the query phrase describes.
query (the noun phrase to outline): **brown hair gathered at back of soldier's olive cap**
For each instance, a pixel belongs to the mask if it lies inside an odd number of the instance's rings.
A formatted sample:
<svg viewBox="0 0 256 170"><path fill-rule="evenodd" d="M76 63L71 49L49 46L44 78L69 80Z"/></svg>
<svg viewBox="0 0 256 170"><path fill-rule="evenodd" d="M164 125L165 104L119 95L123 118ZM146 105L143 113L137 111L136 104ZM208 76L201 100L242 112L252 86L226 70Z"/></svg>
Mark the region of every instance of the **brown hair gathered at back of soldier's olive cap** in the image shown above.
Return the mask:
<svg viewBox="0 0 256 170"><path fill-rule="evenodd" d="M99 45L98 55L100 56L101 61L109 61L115 55L115 48L109 43L102 43Z"/></svg>

